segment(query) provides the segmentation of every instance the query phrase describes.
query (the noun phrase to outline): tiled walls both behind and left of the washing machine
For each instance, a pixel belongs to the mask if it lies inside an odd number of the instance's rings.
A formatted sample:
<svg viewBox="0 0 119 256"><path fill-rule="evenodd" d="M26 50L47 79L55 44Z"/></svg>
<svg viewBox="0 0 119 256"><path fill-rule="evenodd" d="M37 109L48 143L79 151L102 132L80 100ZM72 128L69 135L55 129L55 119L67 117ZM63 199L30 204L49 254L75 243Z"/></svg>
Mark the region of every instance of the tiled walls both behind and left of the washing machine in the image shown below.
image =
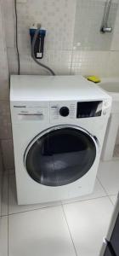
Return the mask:
<svg viewBox="0 0 119 256"><path fill-rule="evenodd" d="M84 2L85 4L83 4ZM117 6L118 0L112 0L112 2L114 6ZM81 20L81 16L80 20L78 20L77 5L78 8L81 7L80 11L82 12L82 4L83 13L87 13L87 15L85 15L85 19L83 15L83 20ZM104 44L102 35L99 34L99 28L97 28L97 25L92 27L91 22L89 25L90 31L86 32L87 41L84 47L81 47L80 44L82 42L83 46L82 31L84 21L85 25L89 24L88 14L90 12L88 12L88 9L92 6L94 10L93 19L98 20L95 22L100 22L101 24L102 13L100 12L100 7L104 8L104 4L105 0L17 0L20 73L47 74L45 70L38 67L31 59L28 30L32 23L38 22L42 23L42 26L47 29L42 62L52 67L56 74L80 73L82 75L119 76L119 8L117 10L113 9L113 14L116 14L111 19L113 21L113 34L103 35L105 42L108 44ZM90 9L90 11L92 10ZM4 15L4 21L2 14ZM81 32L77 30L79 26L82 26L80 27ZM2 35L0 37L0 119L3 124L0 127L0 138L3 148L4 166L8 170L14 168L8 107L8 69L9 73L17 73L17 55L14 42L14 0L3 0L2 13L0 9L0 32ZM98 41L97 47L96 42L97 38L100 40L99 35L101 44ZM89 38L92 37L95 37L94 41L92 41L93 44L89 44ZM5 44L7 47L8 66Z"/></svg>

